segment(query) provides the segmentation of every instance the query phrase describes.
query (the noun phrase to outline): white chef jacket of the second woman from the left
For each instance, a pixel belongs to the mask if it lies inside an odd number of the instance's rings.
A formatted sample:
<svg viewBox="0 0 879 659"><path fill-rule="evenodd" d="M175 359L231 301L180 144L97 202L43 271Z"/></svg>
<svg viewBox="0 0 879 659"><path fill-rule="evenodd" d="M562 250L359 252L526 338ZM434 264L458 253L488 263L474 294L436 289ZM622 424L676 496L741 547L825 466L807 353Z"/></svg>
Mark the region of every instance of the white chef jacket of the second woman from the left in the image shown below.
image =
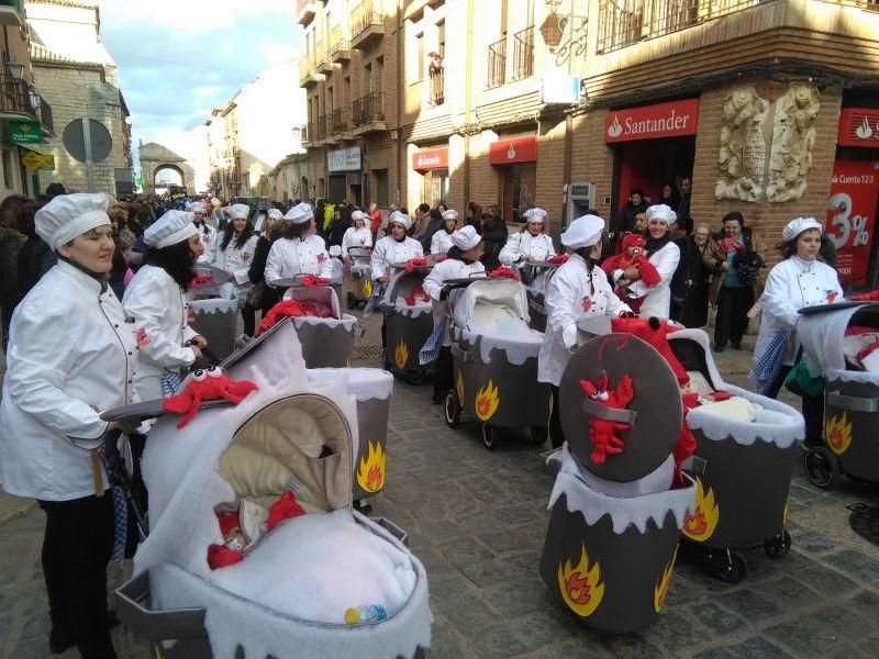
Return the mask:
<svg viewBox="0 0 879 659"><path fill-rule="evenodd" d="M187 320L186 294L163 268L144 266L129 283L122 298L125 316L134 321L140 356L134 384L142 400L163 398L165 370L179 372L196 360L190 347L197 336Z"/></svg>

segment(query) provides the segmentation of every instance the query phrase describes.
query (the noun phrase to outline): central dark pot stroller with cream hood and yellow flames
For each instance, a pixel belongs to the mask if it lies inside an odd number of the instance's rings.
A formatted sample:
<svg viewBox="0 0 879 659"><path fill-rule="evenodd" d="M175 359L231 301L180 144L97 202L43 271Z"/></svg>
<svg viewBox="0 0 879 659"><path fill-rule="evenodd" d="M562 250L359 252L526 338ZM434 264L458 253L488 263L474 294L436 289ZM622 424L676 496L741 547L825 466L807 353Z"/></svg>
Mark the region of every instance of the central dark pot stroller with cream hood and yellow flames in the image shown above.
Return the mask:
<svg viewBox="0 0 879 659"><path fill-rule="evenodd" d="M489 449L498 428L528 428L543 444L550 390L537 381L543 334L528 327L524 287L508 277L448 283L463 288L449 295L455 386L446 394L446 424L456 427L463 412L475 416Z"/></svg>

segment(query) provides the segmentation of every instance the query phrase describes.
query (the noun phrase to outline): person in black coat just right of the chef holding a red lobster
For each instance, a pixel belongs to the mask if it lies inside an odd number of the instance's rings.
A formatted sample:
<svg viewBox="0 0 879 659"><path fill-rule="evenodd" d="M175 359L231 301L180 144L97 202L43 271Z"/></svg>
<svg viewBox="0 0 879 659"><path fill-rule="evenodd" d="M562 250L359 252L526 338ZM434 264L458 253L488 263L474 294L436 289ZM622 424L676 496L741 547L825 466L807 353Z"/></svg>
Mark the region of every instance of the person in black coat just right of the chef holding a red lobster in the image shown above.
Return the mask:
<svg viewBox="0 0 879 659"><path fill-rule="evenodd" d="M711 231L701 225L690 236L676 241L680 261L671 279L671 320L687 327L708 324L708 293L711 272L703 256L711 241Z"/></svg>

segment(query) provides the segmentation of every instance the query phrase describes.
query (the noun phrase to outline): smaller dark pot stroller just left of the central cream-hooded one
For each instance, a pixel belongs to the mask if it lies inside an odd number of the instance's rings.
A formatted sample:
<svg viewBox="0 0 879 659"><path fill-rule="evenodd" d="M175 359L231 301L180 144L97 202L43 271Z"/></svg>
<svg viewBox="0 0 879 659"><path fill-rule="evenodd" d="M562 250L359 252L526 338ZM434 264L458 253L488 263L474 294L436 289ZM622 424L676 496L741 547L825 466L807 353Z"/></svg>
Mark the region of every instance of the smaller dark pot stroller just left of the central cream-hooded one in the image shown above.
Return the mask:
<svg viewBox="0 0 879 659"><path fill-rule="evenodd" d="M391 372L411 376L422 371L419 351L433 332L433 304L423 288L430 271L430 267L411 272L397 268L385 289L385 365Z"/></svg>

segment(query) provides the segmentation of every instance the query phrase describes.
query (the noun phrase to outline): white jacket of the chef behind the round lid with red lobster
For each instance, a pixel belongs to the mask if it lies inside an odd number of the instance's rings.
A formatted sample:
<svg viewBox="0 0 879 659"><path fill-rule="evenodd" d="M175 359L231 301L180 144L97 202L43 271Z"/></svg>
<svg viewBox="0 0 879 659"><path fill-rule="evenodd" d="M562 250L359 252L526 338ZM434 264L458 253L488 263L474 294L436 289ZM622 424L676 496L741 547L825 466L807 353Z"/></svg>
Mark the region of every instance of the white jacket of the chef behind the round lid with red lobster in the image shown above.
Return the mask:
<svg viewBox="0 0 879 659"><path fill-rule="evenodd" d="M537 380L555 387L570 359L569 349L577 345L578 319L619 316L632 311L614 294L598 265L589 277L586 260L579 254L571 254L549 280L545 305L546 334L537 356Z"/></svg>

